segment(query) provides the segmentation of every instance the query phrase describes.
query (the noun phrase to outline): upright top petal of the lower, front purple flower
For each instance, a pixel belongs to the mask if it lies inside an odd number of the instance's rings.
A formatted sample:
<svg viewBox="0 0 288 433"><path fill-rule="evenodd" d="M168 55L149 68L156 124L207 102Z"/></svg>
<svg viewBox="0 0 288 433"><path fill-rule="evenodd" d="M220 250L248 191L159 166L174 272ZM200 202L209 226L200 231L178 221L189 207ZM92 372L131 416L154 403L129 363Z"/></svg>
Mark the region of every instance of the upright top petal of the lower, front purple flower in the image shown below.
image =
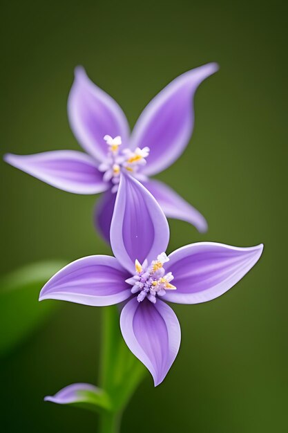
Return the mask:
<svg viewBox="0 0 288 433"><path fill-rule="evenodd" d="M169 225L153 195L135 178L121 174L110 232L111 248L124 268L135 259L150 263L166 251Z"/></svg>

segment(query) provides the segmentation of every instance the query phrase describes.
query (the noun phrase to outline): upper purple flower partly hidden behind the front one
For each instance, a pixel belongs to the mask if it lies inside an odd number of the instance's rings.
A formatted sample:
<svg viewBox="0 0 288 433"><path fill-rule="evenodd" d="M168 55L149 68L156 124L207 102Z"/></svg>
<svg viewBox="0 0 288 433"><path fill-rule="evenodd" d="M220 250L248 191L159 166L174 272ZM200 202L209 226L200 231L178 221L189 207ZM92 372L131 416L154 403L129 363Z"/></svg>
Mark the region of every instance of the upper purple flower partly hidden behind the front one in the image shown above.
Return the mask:
<svg viewBox="0 0 288 433"><path fill-rule="evenodd" d="M142 181L171 218L207 230L204 217L182 197L153 176L169 167L184 151L193 131L192 100L199 84L217 71L206 64L177 77L151 100L131 133L117 102L91 82L84 68L75 71L68 98L68 118L75 137L87 152L62 150L35 155L6 154L7 163L75 194L104 196L97 205L95 224L109 241L120 172Z"/></svg>

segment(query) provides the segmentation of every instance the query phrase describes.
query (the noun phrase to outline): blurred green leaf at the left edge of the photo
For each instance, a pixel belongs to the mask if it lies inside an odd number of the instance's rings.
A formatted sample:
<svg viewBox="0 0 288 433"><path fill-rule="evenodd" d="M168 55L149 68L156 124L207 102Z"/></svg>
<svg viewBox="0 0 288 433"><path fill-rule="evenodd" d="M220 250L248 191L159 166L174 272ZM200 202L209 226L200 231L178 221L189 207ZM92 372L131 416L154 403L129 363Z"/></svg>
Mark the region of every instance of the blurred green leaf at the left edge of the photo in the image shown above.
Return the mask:
<svg viewBox="0 0 288 433"><path fill-rule="evenodd" d="M55 309L56 303L38 301L39 292L64 265L62 261L31 264L0 279L0 356L27 338Z"/></svg>

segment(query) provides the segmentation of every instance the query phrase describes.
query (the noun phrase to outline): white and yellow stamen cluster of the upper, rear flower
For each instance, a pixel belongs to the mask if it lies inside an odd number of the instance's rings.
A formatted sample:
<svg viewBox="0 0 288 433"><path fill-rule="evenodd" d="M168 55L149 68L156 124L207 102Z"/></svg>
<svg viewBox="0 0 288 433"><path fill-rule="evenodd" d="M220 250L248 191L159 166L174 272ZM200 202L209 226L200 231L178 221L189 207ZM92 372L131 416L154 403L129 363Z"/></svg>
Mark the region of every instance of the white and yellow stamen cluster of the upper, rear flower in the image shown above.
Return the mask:
<svg viewBox="0 0 288 433"><path fill-rule="evenodd" d="M120 148L122 140L120 136L112 138L111 136L104 136L107 143L108 151L107 158L104 163L99 165L100 172L104 172L104 182L111 181L113 183L112 192L116 192L120 181L120 172L126 170L133 176L137 176L142 165L146 164L147 156L150 149L148 147L136 147L134 151L128 148Z"/></svg>

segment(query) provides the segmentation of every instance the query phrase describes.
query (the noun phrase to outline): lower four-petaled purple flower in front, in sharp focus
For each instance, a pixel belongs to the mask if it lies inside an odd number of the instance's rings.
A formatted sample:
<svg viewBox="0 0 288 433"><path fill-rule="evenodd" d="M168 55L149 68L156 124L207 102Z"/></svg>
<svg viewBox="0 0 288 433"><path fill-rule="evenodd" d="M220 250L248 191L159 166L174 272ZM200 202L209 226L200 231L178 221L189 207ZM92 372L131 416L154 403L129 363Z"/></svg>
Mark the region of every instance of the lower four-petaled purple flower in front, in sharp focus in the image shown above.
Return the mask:
<svg viewBox="0 0 288 433"><path fill-rule="evenodd" d="M180 347L180 325L166 302L215 299L256 264L263 248L200 242L167 257L168 242L169 225L157 201L139 181L122 174L111 222L115 257L73 261L48 281L39 297L92 306L126 302L120 316L122 335L151 371L155 386Z"/></svg>

